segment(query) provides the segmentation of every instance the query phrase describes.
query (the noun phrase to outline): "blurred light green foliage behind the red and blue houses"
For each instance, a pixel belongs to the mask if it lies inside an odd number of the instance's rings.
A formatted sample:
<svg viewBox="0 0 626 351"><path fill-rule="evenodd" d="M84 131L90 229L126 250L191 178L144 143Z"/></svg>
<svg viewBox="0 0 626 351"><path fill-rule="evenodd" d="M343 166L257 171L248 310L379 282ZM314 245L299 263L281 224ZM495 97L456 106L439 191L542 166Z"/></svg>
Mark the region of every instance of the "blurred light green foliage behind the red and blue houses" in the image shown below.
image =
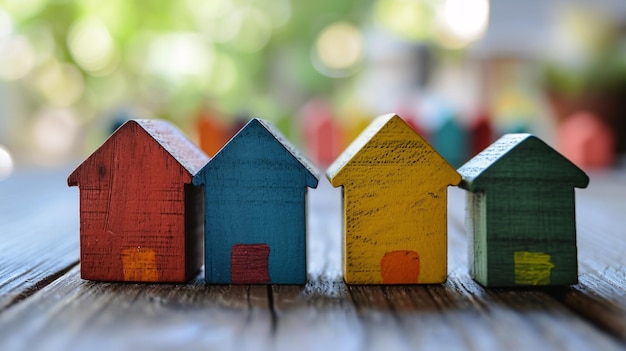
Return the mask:
<svg viewBox="0 0 626 351"><path fill-rule="evenodd" d="M337 20L362 23L370 7L369 1L354 0L0 0L0 10L10 15L15 33L29 40L36 56L46 45L53 46L50 57L38 59L17 84L35 96L33 105L45 105L50 102L36 84L45 71L41 67L50 60L74 65L84 92L72 107L83 118L134 104L174 119L192 118L205 104L230 114L292 113L309 96L333 95L337 79L349 79L324 76L313 66L311 50L319 32ZM93 19L104 23L115 51L112 68L101 72L81 65L69 38L78 23ZM233 21L238 32L216 39ZM211 62L198 63L200 71L160 74L150 66L155 60L151 56L158 54L155 43L159 37L183 33L197 35L202 44L198 50ZM171 61L176 58L166 54ZM280 86L290 89L288 96Z"/></svg>

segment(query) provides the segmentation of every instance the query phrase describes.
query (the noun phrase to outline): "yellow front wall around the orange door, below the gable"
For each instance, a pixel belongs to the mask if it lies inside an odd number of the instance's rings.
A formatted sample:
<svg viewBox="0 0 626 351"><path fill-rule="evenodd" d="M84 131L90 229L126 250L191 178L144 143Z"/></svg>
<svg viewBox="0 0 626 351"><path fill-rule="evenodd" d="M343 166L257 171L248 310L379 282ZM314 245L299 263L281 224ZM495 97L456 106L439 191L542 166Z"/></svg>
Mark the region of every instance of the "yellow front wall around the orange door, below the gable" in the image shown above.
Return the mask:
<svg viewBox="0 0 626 351"><path fill-rule="evenodd" d="M403 250L419 256L413 283L445 281L447 186L433 189L431 183L412 177L400 179L397 187L381 187L379 181L364 178L344 186L344 279L382 284L381 259Z"/></svg>

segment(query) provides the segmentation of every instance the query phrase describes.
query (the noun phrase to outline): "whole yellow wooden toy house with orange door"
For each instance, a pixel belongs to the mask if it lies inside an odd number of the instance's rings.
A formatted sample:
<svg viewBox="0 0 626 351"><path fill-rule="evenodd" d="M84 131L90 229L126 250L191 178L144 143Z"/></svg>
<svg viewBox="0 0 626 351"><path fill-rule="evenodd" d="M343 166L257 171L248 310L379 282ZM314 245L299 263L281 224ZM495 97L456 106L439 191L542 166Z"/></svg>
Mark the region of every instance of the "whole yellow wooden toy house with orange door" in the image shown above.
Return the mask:
<svg viewBox="0 0 626 351"><path fill-rule="evenodd" d="M326 175L343 186L347 283L446 280L447 188L461 177L408 124L377 118Z"/></svg>

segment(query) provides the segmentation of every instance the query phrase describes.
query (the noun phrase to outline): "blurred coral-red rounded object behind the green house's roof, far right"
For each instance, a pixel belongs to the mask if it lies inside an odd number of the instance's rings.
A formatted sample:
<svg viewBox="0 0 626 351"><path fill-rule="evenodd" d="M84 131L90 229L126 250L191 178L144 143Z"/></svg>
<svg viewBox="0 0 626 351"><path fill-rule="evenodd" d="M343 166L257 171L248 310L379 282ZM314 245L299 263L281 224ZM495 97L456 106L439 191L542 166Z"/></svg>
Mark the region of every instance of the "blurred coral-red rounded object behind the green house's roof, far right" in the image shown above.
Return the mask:
<svg viewBox="0 0 626 351"><path fill-rule="evenodd" d="M615 161L616 136L598 115L579 111L558 126L557 148L578 167L605 169Z"/></svg>

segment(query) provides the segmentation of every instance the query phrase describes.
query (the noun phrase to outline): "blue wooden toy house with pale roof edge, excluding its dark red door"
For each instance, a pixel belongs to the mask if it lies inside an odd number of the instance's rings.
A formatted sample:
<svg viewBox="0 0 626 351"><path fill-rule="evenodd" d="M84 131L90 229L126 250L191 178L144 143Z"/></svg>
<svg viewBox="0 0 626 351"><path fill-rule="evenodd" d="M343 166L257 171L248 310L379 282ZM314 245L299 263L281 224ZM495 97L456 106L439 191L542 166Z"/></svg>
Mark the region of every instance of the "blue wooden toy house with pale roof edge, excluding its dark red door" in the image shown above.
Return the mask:
<svg viewBox="0 0 626 351"><path fill-rule="evenodd" d="M264 244L270 282L304 284L306 194L317 182L313 165L275 127L250 120L193 178L205 189L206 281L264 280L231 280L233 246Z"/></svg>

